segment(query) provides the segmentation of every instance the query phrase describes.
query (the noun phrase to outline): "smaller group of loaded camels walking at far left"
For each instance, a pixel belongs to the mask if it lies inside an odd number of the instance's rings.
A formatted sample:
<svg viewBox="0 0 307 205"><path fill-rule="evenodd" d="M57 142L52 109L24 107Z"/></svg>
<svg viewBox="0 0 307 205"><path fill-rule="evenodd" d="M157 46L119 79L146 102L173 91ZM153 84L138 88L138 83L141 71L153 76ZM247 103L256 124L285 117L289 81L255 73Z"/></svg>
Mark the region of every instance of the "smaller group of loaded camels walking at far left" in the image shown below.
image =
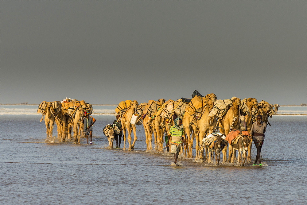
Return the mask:
<svg viewBox="0 0 307 205"><path fill-rule="evenodd" d="M43 101L37 109L37 113L42 114L40 122L43 119L45 121L47 139L52 137L53 126L56 123L58 141L71 141L73 137L76 144L80 144L80 137L82 137L85 111L92 114L92 105L85 103L84 100L78 101L70 98L63 99L61 102Z"/></svg>

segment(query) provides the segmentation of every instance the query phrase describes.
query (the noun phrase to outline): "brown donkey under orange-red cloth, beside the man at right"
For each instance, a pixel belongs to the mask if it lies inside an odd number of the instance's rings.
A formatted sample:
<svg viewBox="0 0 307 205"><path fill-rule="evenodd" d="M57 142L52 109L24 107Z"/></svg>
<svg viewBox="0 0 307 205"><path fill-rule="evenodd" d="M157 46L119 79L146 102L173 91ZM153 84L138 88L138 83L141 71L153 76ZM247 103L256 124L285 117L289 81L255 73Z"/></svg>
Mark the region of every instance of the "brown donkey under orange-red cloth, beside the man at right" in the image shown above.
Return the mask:
<svg viewBox="0 0 307 205"><path fill-rule="evenodd" d="M252 137L249 137L247 135L243 135L239 133L239 139L236 144L231 144L232 152L229 153L228 162L231 159L231 162L235 164L235 150L238 150L238 163L240 166L244 166L246 161L246 152L248 150L248 145L251 141ZM242 152L243 152L243 161L242 161Z"/></svg>

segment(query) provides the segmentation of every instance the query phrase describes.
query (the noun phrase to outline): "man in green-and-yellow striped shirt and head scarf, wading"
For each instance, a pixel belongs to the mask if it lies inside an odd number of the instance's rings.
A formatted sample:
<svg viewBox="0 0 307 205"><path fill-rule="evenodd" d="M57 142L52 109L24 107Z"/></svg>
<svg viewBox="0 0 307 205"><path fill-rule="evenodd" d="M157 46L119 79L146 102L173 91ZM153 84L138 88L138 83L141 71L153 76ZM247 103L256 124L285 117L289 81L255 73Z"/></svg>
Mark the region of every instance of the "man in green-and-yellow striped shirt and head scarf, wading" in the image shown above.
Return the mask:
<svg viewBox="0 0 307 205"><path fill-rule="evenodd" d="M174 120L174 126L171 126L169 129L169 140L167 141L166 146L171 145L171 153L174 154L174 163L178 165L178 156L181 150L182 143L184 144L184 149L186 149L184 132L182 120L180 118L176 118Z"/></svg>

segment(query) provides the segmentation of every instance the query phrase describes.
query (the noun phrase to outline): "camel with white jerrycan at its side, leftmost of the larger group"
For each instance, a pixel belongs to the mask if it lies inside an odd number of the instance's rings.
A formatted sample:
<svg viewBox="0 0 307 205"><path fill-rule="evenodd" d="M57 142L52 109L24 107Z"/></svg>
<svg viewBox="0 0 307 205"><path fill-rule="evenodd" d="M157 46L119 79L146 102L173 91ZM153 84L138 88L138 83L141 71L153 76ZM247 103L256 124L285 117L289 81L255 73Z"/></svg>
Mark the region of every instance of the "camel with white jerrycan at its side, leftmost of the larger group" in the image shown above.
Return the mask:
<svg viewBox="0 0 307 205"><path fill-rule="evenodd" d="M123 150L126 150L126 130L128 131L128 144L129 148L128 150L134 150L134 144L137 141L138 137L136 136L136 128L135 125L132 125L130 123L132 115L135 113L136 109L138 107L138 102L134 100L131 103L131 106L127 108L126 112L122 115L121 121L122 121L122 133L123 133L123 140L124 140L124 147ZM131 132L133 130L134 139L133 143L131 144Z"/></svg>

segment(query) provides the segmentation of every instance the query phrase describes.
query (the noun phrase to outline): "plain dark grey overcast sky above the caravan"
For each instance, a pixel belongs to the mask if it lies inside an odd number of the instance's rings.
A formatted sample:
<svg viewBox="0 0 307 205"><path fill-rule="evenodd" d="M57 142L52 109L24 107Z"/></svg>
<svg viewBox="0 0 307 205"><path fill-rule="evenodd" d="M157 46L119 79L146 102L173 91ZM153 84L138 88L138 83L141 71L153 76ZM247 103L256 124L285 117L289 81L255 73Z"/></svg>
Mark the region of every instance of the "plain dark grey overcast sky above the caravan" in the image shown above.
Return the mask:
<svg viewBox="0 0 307 205"><path fill-rule="evenodd" d="M0 103L307 103L307 1L0 1Z"/></svg>

